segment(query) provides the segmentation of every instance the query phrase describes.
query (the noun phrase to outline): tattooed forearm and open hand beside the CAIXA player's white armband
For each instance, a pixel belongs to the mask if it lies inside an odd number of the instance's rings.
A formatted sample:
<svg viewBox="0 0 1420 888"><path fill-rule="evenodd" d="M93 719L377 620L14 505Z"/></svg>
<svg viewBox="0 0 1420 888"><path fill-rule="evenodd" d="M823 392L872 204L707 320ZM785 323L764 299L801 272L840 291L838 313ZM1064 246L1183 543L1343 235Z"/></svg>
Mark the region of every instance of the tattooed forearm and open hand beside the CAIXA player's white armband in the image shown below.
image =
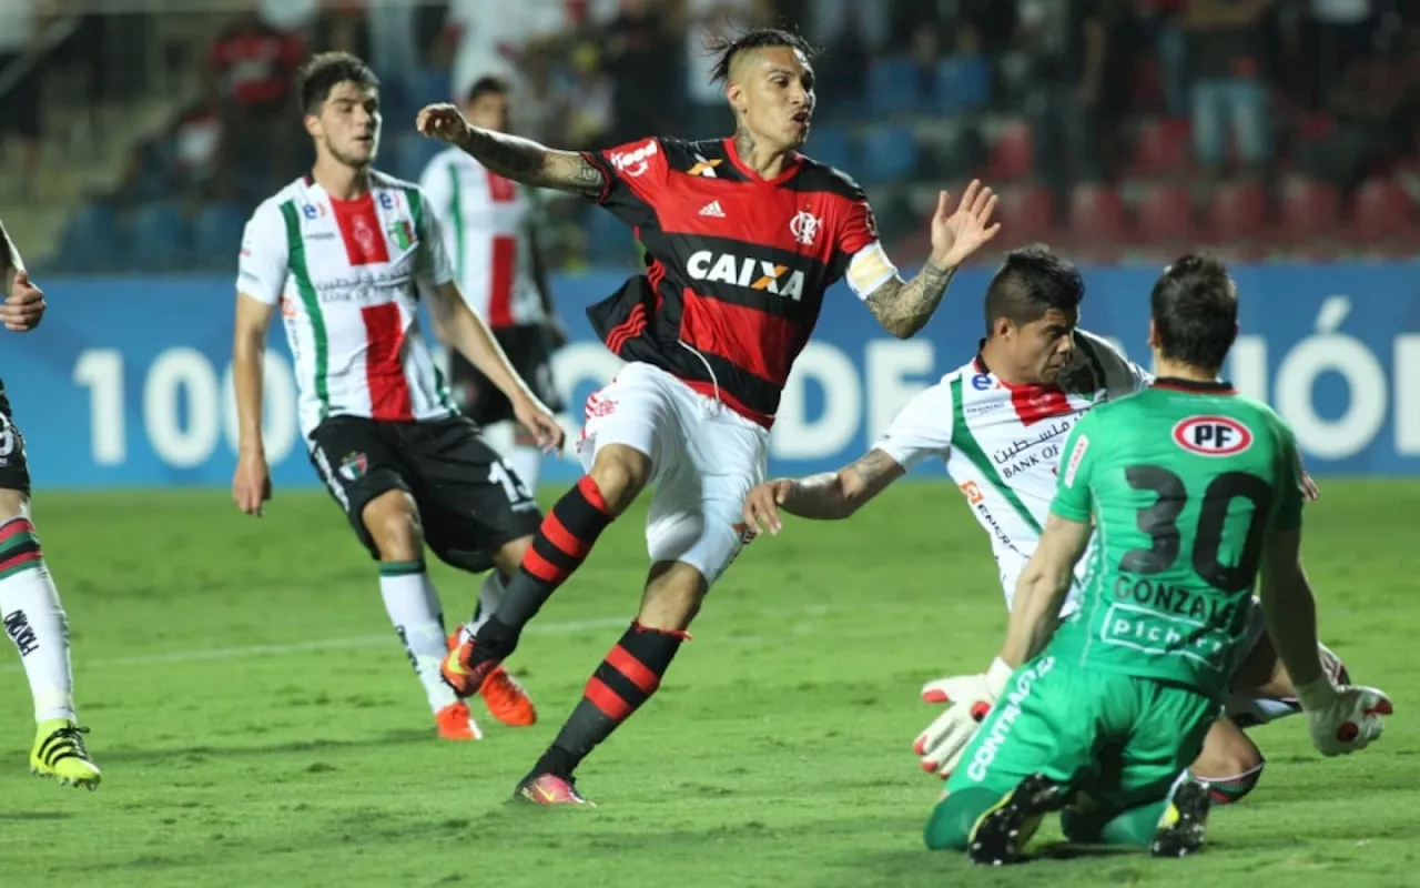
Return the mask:
<svg viewBox="0 0 1420 888"><path fill-rule="evenodd" d="M890 274L865 300L883 330L906 340L926 325L961 263L1001 230L1000 222L991 224L994 210L995 195L976 179L961 195L956 212L951 212L947 192L937 196L937 209L932 215L932 254L922 271L910 281L902 280L896 273ZM866 264L859 269L849 266L849 281L855 274L870 273L866 266L872 264L873 257L855 257L853 264L861 261ZM890 267L886 261L883 264Z"/></svg>

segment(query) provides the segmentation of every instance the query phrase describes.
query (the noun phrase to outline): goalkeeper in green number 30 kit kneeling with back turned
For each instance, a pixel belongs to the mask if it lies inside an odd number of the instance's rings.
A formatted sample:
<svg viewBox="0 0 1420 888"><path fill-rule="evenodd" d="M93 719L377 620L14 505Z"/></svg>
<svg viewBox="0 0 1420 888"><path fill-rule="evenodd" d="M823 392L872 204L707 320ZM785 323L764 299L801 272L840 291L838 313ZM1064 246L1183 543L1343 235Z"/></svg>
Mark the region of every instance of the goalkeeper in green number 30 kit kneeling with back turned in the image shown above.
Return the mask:
<svg viewBox="0 0 1420 888"><path fill-rule="evenodd" d="M1061 811L1072 843L1197 851L1210 797L1184 769L1247 654L1255 607L1316 749L1345 754L1380 736L1386 695L1322 669L1296 443L1268 406L1218 381L1235 337L1221 263L1186 256L1164 270L1149 327L1157 379L1091 411L1065 443L988 675L1014 672L932 813L929 848L1015 862ZM1059 622L1092 533L1085 598Z"/></svg>

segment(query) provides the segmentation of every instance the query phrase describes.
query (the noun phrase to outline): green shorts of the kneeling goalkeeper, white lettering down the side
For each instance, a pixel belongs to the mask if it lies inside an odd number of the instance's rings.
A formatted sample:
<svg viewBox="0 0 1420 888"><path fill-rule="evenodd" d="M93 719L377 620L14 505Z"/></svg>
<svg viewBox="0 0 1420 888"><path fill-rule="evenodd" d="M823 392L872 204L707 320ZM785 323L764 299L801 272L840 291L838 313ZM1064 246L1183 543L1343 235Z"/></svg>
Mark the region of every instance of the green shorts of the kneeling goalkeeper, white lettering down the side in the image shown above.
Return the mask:
<svg viewBox="0 0 1420 888"><path fill-rule="evenodd" d="M1048 654L1017 669L967 746L947 793L997 794L1037 771L1103 810L1157 801L1203 749L1218 700Z"/></svg>

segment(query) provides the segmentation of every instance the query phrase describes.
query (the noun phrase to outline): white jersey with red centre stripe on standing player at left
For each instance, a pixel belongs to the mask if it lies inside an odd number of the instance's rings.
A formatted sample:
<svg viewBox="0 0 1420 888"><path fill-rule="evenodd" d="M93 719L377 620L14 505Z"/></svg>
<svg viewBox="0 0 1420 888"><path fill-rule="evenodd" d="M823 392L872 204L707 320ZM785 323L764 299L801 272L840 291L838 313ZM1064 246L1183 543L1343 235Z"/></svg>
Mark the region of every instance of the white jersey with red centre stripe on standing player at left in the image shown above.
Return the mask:
<svg viewBox="0 0 1420 888"><path fill-rule="evenodd" d="M422 294L452 280L423 193L371 172L355 200L335 200L310 178L264 200L241 239L237 291L280 303L310 435L335 415L457 413L416 313Z"/></svg>

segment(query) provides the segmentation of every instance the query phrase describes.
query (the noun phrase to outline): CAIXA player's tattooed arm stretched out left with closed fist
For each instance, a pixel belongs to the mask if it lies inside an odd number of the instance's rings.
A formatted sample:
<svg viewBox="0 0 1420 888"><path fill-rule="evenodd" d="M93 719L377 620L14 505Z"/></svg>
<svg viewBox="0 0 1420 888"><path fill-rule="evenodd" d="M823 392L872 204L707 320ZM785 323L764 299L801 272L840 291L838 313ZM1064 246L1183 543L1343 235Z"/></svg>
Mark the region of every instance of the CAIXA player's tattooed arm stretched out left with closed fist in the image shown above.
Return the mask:
<svg viewBox="0 0 1420 888"><path fill-rule="evenodd" d="M416 125L423 135L466 151L514 182L584 195L598 195L606 183L602 172L575 151L557 151L532 139L471 126L453 105L423 108Z"/></svg>

